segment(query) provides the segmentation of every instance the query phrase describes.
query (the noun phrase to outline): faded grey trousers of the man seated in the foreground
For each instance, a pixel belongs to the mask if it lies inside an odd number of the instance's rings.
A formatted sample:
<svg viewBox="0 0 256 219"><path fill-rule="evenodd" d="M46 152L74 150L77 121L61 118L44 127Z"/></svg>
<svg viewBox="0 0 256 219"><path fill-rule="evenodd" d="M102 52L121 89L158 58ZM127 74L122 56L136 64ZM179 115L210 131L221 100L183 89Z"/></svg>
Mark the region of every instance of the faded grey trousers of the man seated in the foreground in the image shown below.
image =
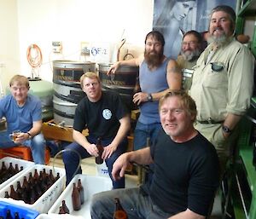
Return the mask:
<svg viewBox="0 0 256 219"><path fill-rule="evenodd" d="M152 203L148 195L148 187L122 188L96 193L90 205L92 219L113 218L114 198L120 199L120 204L128 214L129 219L166 219L167 214Z"/></svg>

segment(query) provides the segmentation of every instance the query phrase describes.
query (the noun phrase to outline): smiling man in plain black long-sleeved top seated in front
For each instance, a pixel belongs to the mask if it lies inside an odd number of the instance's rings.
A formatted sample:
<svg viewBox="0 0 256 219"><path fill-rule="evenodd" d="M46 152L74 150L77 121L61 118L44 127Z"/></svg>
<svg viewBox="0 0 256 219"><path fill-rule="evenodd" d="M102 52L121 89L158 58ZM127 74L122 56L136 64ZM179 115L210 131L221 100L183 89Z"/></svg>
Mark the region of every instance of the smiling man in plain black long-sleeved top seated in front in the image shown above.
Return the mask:
<svg viewBox="0 0 256 219"><path fill-rule="evenodd" d="M94 195L92 219L112 218L114 198L128 218L205 218L219 184L218 155L195 128L195 101L183 91L160 99L162 129L152 147L122 154L113 164L113 179L129 163L154 163L151 184Z"/></svg>

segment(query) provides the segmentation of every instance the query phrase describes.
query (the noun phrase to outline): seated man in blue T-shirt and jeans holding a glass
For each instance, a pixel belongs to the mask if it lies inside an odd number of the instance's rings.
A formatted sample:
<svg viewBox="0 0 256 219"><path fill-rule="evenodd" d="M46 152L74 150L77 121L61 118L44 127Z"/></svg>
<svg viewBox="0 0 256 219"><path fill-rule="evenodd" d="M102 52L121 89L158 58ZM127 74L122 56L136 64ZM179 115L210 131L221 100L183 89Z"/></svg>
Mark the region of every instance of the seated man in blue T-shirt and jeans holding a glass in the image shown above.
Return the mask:
<svg viewBox="0 0 256 219"><path fill-rule="evenodd" d="M38 97L29 95L29 81L25 76L15 75L9 82L11 95L0 100L0 118L5 117L7 130L0 132L0 147L30 147L36 164L44 164L44 136L42 129L42 106ZM12 141L10 135L18 131Z"/></svg>

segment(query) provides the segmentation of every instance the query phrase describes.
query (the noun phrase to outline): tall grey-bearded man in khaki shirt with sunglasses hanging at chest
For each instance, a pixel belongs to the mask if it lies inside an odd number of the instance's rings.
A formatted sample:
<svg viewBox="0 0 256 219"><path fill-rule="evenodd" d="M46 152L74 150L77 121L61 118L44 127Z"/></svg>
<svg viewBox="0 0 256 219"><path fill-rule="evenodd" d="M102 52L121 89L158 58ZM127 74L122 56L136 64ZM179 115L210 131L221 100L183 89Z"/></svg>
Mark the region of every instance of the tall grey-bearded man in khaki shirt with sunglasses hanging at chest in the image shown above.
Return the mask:
<svg viewBox="0 0 256 219"><path fill-rule="evenodd" d="M236 14L226 5L212 9L209 40L198 59L190 94L198 110L195 129L216 147L224 170L236 124L250 106L254 58L237 42Z"/></svg>

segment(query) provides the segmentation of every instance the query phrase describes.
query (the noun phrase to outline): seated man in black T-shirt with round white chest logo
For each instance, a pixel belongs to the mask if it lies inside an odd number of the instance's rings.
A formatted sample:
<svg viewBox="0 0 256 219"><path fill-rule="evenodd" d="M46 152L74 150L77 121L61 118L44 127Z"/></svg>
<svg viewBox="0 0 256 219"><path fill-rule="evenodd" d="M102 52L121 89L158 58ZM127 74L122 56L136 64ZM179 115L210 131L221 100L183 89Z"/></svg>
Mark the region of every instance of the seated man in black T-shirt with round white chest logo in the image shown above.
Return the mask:
<svg viewBox="0 0 256 219"><path fill-rule="evenodd" d="M79 101L73 122L73 142L67 149L80 154L81 158L98 156L96 140L102 139L104 151L102 158L108 166L109 176L113 162L120 154L125 153L128 141L126 138L130 130L130 117L118 94L102 91L102 85L97 74L86 72L80 78L81 87L86 96ZM89 136L84 137L82 131L87 128ZM72 151L63 153L68 184L74 174L82 173L79 166L79 156ZM113 188L125 187L125 178L113 182Z"/></svg>

